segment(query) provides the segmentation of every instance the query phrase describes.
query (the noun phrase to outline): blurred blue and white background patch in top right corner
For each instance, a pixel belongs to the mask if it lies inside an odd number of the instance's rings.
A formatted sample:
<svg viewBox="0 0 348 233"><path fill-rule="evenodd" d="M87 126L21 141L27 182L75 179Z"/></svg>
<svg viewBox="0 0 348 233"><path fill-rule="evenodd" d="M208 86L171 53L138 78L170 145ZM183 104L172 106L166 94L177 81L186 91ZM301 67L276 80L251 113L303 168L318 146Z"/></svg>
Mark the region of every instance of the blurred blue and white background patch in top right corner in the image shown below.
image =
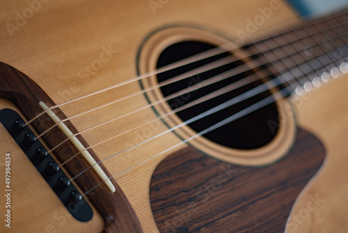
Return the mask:
<svg viewBox="0 0 348 233"><path fill-rule="evenodd" d="M299 15L313 18L348 8L348 0L285 0Z"/></svg>

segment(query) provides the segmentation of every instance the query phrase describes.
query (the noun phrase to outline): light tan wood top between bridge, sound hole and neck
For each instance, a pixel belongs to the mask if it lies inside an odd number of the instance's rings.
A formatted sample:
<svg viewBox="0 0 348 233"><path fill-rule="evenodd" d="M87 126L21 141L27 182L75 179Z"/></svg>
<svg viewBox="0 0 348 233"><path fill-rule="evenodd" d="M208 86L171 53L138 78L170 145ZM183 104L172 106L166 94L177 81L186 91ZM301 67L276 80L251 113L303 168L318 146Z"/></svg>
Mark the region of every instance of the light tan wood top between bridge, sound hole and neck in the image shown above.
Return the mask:
<svg viewBox="0 0 348 233"><path fill-rule="evenodd" d="M15 13L22 14L28 7L26 0L1 1L0 4L1 22L11 24L15 24ZM260 36L271 29L284 27L279 24L285 22L292 24L297 21L292 10L284 3L280 5L280 9L273 14L274 20L267 20L253 36ZM6 27L1 28L0 61L26 73L55 103L63 103L135 77L137 50L143 39L159 27L168 24L195 24L206 29L221 31L239 42L237 29L245 30L247 24L245 20L258 15L260 13L258 7L265 6L269 6L268 0L214 2L179 0L162 5L161 8L157 8L154 15L148 1L109 0L103 4L95 1L74 1L74 3L48 1L45 4L42 3L40 10L35 12L30 20L26 20L26 24L19 27L19 30L14 31L12 36ZM112 57L102 64L102 68L93 70L93 74L79 75L79 70L84 70L85 66L91 66L93 61L99 59L103 52L102 48L109 48L109 46L117 52L111 54ZM72 116L77 112L100 106L139 90L139 84L134 83L97 98L63 106L61 109L66 115ZM72 123L77 130L81 131L146 104L145 98L139 96L103 111L72 119ZM108 114L104 114L104 111ZM117 123L84 133L84 138L88 144L93 145L115 133L122 133L155 117L155 113L148 109L141 114L134 114ZM133 133L106 142L102 146L95 146L93 149L100 159L104 159L116 151L126 149L129 144L134 145L166 129L161 122L149 123L134 130ZM13 147L8 147L6 142L3 141L1 152L14 152ZM139 149L129 151L126 155L114 158L104 165L111 174L117 174L178 142L180 140L175 135L164 135L160 141L139 146ZM136 170L116 176L116 181L134 206L145 232L158 232L150 209L148 188L152 171L163 156L150 160ZM25 183L22 184L24 186ZM45 193L45 189L42 193ZM25 215L29 211L22 213Z"/></svg>

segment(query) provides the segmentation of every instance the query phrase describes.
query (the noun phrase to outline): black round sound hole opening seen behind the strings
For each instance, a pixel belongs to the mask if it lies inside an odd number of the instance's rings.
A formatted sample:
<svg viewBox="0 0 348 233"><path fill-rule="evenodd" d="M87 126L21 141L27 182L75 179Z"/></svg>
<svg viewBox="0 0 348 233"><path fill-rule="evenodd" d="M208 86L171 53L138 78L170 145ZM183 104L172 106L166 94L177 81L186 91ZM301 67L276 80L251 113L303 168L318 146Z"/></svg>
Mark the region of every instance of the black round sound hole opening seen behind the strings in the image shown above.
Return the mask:
<svg viewBox="0 0 348 233"><path fill-rule="evenodd" d="M214 45L198 41L183 41L180 43L175 43L167 47L160 54L157 61L157 68L161 68L162 66L166 66L175 61L180 61L187 57L193 56L194 54L198 54L212 48L214 48ZM230 55L230 53L225 52L214 57L209 57L201 61L190 63L180 68L175 68L173 70L160 73L157 75L157 80L159 83L164 82L165 80L169 80L172 77L186 73L189 70L196 69L200 66L205 66L207 63L211 63ZM161 92L164 96L169 96L172 93L176 93L177 91L186 89L187 87L191 87L193 89L194 87L196 87L196 84L199 85L200 82L212 79L215 75L219 75L228 70L243 66L243 64L244 61L238 60L232 63L228 63L224 66L214 68L212 70L207 70L198 75L194 75L184 80L180 80L178 82L174 82L173 84L168 84L164 87L161 87ZM248 70L237 75L232 75L224 80L220 80L219 82L216 82L214 84L209 84L209 86L207 87L192 90L189 93L185 93L182 96L178 96L176 98L168 100L167 102L171 106L171 108L175 110L178 107L187 105L188 103L206 96L209 93L212 93L224 87L228 87L228 85L235 83L238 80L242 80L244 79L244 77L249 77L249 75L253 74L253 70ZM255 77L255 75L253 76ZM198 105L194 105L193 107L189 107L185 110L177 112L177 116L180 117L182 121L187 121L192 117L196 117L198 114L201 114L207 110L212 109L213 107L216 107L217 105L220 105L221 103L231 100L232 98L236 98L246 91L250 91L251 89L258 87L263 83L264 82L258 79L254 82L251 82L250 84L246 84L243 87L239 87L232 91L226 91L220 96L206 100L204 103L200 103ZM204 117L203 119L189 123L189 127L191 127L196 132L201 132L209 126L213 126L219 121L223 121L233 114L236 114L237 112L244 110L247 107L254 105L255 103L258 103L258 101L270 95L271 93L269 91L264 91L256 96L243 100L240 103L227 107L224 110ZM255 112L251 112L250 114L247 114L242 118L232 121L223 127L212 130L211 132L203 135L203 137L206 137L208 140L216 142L217 144L235 149L256 149L269 143L274 138L274 136L278 132L277 122L278 110L276 104L271 103L265 107L260 108L259 110L256 110Z"/></svg>

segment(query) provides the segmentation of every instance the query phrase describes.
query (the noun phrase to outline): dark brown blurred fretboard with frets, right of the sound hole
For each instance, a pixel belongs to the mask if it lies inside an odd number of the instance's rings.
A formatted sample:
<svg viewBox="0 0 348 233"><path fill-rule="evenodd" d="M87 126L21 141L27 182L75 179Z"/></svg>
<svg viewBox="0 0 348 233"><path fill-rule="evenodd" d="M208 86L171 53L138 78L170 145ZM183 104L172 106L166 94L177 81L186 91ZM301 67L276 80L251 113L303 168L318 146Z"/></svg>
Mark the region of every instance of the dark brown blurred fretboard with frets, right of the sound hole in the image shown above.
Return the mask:
<svg viewBox="0 0 348 233"><path fill-rule="evenodd" d="M271 73L283 80L288 94L301 94L347 73L348 11L308 22L251 46Z"/></svg>

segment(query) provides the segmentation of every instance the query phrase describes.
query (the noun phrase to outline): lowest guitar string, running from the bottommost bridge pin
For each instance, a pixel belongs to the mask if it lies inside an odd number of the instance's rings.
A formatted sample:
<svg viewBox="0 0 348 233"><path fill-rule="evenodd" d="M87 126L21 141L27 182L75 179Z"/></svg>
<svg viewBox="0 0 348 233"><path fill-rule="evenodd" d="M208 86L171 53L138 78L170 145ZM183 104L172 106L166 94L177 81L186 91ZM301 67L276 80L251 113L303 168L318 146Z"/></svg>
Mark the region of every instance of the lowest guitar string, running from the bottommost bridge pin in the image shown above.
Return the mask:
<svg viewBox="0 0 348 233"><path fill-rule="evenodd" d="M347 58L348 58L348 57L344 57L343 59L347 59ZM342 60L342 59L337 59L337 60L333 61L333 63L335 63L335 62L337 62L337 61L340 61L340 60ZM348 61L348 59L346 60L346 62L347 62L347 61ZM326 70L326 68L324 68L323 70ZM345 71L347 71L347 70L345 70ZM326 72L326 71L325 71L325 72ZM324 73L325 73L325 72L324 72ZM323 73L323 74L324 74L324 73ZM301 85L301 83L300 83L299 81L297 81L297 82ZM196 135L193 135L193 136L187 138L186 140L183 140L182 142L179 142L179 143L175 144L174 146L171 146L171 147L169 147L168 149L166 149L166 150L164 150L164 151L161 151L160 153L157 153L155 156L152 156L152 157L150 157L150 158L147 158L146 160L143 160L143 161L141 161L140 163L137 163L136 165L133 165L133 166L131 166L131 167L128 167L128 168L125 169L125 170L122 170L121 172L118 172L118 173L116 173L116 174L114 174L114 175L111 175L111 176L110 176L108 179L106 179L106 180L109 180L109 179L111 179L111 178L113 178L113 177L116 177L116 176L118 176L118 175L120 175L120 174L122 174L122 173L124 173L124 172L127 172L127 171L133 169L134 167L137 167L137 166L139 166L139 165L141 165L141 164L143 164L143 163L148 162L149 160L152 160L153 158L156 158L157 156L160 156L160 155L163 154L163 153L166 153L166 152L168 152L168 151L171 151L172 149L175 149L177 146L180 146L180 145L182 145L182 144L185 144L185 143L187 143L187 142L190 142L191 140L194 140L194 139L196 139L197 137L200 137L200 136L202 136L202 135L205 135L206 133L209 133L209 132L211 132L212 130L215 130L216 128L220 128L220 127L222 127L222 126L225 126L227 123L230 123L230 122L232 122L232 121L235 121L236 119L239 119L240 117L244 117L245 115L250 114L251 112L254 112L254 111L256 111L256 110L259 110L260 108L262 108L262 107L264 107L264 106L267 106L267 105L269 105L269 104L271 104L271 103L274 103L274 102L277 101L277 100L280 100L281 98L284 98L284 96L285 96L286 93L287 93L287 89L289 89L289 88L292 88L292 87L288 86L288 87L286 87L286 88L284 88L284 89L282 89L282 90L280 90L280 91L278 91L278 92L272 94L271 96L268 96L267 98L264 98L263 100L260 100L258 103L255 103L255 104L253 104L253 105L251 105L251 106L245 108L244 110L241 110L241 111L237 112L236 114L233 114L232 116L230 116L230 117L224 119L223 121L220 121L219 123L216 123L216 124L214 124L213 126L210 126L209 128L200 131L199 133L196 133ZM285 91L284 91L284 90L285 90ZM283 93L283 92L284 92L284 93ZM105 181L106 181L106 180L105 180ZM102 183L104 183L105 181L102 181L101 183L97 184L97 185L94 186L93 188L90 188L90 190L88 190L88 191L87 191L86 193L84 193L83 195L84 195L84 196L87 195L88 193L90 193L92 190L94 190L95 188L97 188L98 186L100 186L100 185L101 185Z"/></svg>

